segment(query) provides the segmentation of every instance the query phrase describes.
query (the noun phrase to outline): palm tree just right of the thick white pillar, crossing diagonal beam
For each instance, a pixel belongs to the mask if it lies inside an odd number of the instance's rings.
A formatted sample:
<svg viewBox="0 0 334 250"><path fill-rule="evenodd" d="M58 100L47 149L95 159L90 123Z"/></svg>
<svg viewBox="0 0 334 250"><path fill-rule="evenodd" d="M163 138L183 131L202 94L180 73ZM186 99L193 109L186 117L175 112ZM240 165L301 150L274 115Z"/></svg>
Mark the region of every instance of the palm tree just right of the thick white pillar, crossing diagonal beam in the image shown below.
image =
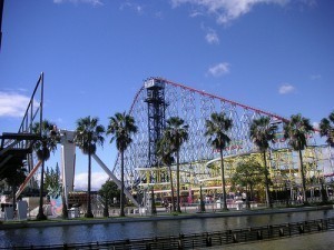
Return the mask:
<svg viewBox="0 0 334 250"><path fill-rule="evenodd" d="M88 154L88 190L87 190L87 212L86 218L94 218L91 212L90 200L90 181L91 181L91 154L96 153L97 144L102 146L105 138L105 127L99 124L98 118L91 118L90 116L80 118L77 120L77 129L75 142L82 150L85 154Z"/></svg>

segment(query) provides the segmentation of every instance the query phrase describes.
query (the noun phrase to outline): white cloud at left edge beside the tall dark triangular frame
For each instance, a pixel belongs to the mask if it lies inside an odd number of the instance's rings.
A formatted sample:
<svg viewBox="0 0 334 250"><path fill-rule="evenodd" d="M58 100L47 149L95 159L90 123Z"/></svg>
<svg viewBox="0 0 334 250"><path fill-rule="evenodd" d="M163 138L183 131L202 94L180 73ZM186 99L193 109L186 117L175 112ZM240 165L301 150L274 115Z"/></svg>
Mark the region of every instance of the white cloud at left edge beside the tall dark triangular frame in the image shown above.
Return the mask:
<svg viewBox="0 0 334 250"><path fill-rule="evenodd" d="M27 96L0 91L0 117L23 117L29 101Z"/></svg>

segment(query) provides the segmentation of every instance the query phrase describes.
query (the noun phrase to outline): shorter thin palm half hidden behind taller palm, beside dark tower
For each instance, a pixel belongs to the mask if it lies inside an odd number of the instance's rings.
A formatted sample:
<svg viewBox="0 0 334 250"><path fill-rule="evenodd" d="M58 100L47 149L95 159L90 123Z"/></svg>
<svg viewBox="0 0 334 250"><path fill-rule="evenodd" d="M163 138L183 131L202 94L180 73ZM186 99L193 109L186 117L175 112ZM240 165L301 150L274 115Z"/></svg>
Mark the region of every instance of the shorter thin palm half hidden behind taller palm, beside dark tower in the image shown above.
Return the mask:
<svg viewBox="0 0 334 250"><path fill-rule="evenodd" d="M167 136L167 134L166 134ZM171 163L174 162L173 150L168 138L166 138L165 133L163 138L158 141L157 144L157 154L161 159L161 162L168 167L169 172L169 181L170 181L170 193L171 193L171 207L173 211L176 211L175 208L175 198L174 198L174 184L173 184L173 172L171 172Z"/></svg>

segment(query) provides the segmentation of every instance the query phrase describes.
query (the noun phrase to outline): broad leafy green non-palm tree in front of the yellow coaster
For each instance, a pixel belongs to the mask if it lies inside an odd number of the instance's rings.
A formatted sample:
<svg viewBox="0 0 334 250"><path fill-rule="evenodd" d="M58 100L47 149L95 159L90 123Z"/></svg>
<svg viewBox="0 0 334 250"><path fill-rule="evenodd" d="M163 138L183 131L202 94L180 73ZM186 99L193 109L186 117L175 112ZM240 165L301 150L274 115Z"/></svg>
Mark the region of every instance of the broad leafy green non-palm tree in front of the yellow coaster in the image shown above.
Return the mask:
<svg viewBox="0 0 334 250"><path fill-rule="evenodd" d="M263 182L265 177L265 169L253 159L242 161L237 164L235 173L232 176L230 181L233 184L240 184L246 187L246 207L250 209L249 197L253 187Z"/></svg>

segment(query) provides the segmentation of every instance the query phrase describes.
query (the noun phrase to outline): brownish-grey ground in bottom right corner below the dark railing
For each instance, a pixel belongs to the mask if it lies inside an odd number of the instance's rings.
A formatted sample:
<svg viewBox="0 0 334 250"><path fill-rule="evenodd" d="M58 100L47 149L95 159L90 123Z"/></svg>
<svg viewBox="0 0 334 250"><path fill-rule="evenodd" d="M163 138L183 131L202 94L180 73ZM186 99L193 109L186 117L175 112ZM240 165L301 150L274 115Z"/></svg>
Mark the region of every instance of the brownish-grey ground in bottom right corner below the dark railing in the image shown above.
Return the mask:
<svg viewBox="0 0 334 250"><path fill-rule="evenodd" d="M331 250L334 249L334 231L303 234L278 240L200 248L198 250Z"/></svg>

